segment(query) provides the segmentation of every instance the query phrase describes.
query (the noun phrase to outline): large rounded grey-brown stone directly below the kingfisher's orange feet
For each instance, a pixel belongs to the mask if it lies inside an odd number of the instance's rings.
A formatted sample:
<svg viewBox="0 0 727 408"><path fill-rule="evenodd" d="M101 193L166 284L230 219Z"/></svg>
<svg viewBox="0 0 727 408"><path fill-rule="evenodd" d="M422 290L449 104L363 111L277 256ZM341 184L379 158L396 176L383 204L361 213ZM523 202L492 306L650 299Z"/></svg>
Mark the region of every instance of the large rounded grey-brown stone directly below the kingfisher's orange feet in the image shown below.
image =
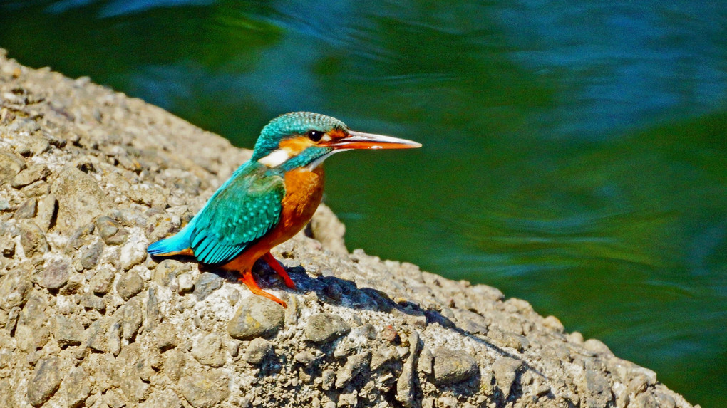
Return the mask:
<svg viewBox="0 0 727 408"><path fill-rule="evenodd" d="M249 296L228 323L233 338L252 340L276 335L284 323L283 308L268 298Z"/></svg>

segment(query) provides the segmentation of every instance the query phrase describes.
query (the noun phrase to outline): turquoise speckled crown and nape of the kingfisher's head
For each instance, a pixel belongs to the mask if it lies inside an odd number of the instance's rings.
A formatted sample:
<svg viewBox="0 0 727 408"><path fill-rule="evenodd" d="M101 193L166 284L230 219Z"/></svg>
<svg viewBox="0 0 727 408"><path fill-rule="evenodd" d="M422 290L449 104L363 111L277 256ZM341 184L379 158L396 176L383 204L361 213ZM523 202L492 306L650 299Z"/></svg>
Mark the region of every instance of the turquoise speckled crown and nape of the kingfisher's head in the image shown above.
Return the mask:
<svg viewBox="0 0 727 408"><path fill-rule="evenodd" d="M280 115L262 128L252 160L260 160L277 150L283 139L303 136L309 131L326 133L334 129L348 132L345 123L320 113L291 112Z"/></svg>

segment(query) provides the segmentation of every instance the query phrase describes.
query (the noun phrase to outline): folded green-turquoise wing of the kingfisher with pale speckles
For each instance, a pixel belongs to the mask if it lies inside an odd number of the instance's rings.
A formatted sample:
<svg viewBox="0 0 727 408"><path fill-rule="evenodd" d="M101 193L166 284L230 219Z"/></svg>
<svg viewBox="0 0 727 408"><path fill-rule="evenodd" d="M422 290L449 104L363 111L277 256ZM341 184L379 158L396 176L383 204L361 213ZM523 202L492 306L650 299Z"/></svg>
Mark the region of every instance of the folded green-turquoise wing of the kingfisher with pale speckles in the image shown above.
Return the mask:
<svg viewBox="0 0 727 408"><path fill-rule="evenodd" d="M190 246L203 264L232 261L280 221L283 177L260 168L244 170L223 184L192 221Z"/></svg>

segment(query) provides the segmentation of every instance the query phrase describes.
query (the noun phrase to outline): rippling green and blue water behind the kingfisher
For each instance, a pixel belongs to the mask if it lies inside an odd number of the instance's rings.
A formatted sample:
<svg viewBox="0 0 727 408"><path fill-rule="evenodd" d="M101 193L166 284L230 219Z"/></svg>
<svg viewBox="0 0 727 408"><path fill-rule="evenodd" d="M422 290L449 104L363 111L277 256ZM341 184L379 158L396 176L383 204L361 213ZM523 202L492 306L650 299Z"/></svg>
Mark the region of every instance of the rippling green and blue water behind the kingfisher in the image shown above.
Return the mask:
<svg viewBox="0 0 727 408"><path fill-rule="evenodd" d="M251 147L313 110L349 248L499 287L727 406L727 2L1 1L0 46Z"/></svg>

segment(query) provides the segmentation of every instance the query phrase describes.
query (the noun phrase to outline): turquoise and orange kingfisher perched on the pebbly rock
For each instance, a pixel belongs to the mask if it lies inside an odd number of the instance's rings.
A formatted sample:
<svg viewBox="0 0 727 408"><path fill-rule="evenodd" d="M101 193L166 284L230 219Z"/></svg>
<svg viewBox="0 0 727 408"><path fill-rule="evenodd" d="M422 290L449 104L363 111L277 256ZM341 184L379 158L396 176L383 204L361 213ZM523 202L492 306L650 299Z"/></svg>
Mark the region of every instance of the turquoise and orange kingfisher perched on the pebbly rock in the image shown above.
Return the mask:
<svg viewBox="0 0 727 408"><path fill-rule="evenodd" d="M265 292L252 276L262 258L295 289L270 249L297 234L321 203L321 164L352 149L409 149L422 144L379 134L352 131L342 121L311 112L280 115L268 123L252 158L209 197L204 207L172 237L153 242L153 256L194 256L201 264L236 271L255 295L287 307Z"/></svg>

